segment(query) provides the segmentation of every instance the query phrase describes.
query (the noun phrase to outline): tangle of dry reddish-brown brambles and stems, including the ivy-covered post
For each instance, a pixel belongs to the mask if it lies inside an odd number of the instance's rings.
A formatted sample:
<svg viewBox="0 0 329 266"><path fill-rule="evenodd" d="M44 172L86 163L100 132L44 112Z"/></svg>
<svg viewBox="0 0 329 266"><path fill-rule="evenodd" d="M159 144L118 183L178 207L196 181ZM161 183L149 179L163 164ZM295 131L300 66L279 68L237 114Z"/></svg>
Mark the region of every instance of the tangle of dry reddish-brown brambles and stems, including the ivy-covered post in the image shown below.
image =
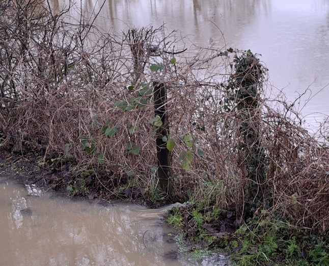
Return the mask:
<svg viewBox="0 0 329 266"><path fill-rule="evenodd" d="M94 179L105 190L116 178L154 196L152 82L164 82L176 200L328 233L328 128L319 141L292 105L266 99L266 69L253 54L178 49L183 42L163 26L102 33L92 20L65 22L70 8L53 14L41 0L1 2L1 149L69 158L72 173L111 172L108 182ZM240 72L238 59L246 60ZM248 91L243 78L256 74Z"/></svg>

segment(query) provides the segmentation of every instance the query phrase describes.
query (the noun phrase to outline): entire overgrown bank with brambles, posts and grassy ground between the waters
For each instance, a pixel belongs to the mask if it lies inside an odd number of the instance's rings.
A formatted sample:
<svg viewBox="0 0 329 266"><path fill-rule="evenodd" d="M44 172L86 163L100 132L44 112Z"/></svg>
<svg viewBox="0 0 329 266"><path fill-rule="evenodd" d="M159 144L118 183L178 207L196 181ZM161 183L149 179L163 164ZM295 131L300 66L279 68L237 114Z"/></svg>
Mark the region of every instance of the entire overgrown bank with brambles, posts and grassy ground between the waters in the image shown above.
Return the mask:
<svg viewBox="0 0 329 266"><path fill-rule="evenodd" d="M116 35L65 22L71 7L54 16L36 12L43 1L7 4L6 174L68 197L188 202L168 222L196 256L208 247L233 250L238 265L327 263L329 127L311 136L294 102L267 98L256 54L177 50L164 26Z"/></svg>

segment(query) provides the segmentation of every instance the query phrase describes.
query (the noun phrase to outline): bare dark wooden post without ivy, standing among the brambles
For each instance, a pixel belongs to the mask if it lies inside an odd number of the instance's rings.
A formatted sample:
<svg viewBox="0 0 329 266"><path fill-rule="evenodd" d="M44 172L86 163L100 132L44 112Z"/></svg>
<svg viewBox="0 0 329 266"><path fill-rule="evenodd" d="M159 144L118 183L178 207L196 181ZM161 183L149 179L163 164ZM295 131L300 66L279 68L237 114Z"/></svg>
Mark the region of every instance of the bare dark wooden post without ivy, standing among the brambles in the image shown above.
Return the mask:
<svg viewBox="0 0 329 266"><path fill-rule="evenodd" d="M171 153L167 149L167 142L163 141L166 136L169 139L169 125L166 115L166 85L160 82L153 82L154 95L154 112L162 121L162 126L157 129L156 135L156 152L158 161L158 178L159 187L163 192L166 192L169 197L172 194L172 168L171 168Z"/></svg>

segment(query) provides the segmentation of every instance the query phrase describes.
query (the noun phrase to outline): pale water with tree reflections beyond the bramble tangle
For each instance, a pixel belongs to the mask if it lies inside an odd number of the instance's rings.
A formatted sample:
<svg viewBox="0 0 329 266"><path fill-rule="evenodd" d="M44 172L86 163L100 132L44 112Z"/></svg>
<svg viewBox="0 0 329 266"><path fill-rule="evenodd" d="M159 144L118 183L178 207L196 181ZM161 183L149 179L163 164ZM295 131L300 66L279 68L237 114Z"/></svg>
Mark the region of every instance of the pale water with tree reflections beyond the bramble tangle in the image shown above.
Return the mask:
<svg viewBox="0 0 329 266"><path fill-rule="evenodd" d="M59 9L68 2L52 4ZM79 19L81 11L87 17L97 14L103 3L75 1L78 11L71 12L72 21ZM328 0L106 0L95 21L106 32L163 22L169 31L187 36L185 45L232 46L261 54L270 83L278 88L273 88L276 94L283 89L294 101L309 87L297 107L307 126L314 127L328 115L329 86L324 88L329 84Z"/></svg>

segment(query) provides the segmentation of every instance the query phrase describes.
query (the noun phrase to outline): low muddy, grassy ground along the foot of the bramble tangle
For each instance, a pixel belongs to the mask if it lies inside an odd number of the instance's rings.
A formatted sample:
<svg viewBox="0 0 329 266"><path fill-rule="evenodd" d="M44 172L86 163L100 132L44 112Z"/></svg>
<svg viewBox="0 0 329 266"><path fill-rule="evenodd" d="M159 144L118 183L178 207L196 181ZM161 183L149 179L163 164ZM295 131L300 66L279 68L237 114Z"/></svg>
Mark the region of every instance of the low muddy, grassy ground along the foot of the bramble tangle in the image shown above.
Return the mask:
<svg viewBox="0 0 329 266"><path fill-rule="evenodd" d="M54 190L62 197L97 200L102 205L111 202L133 201L147 207L159 207L165 201L148 198L143 188L122 186L113 193L100 190L91 183L79 183L71 175L73 163L66 165L41 164L42 156L0 154L0 173L22 184L36 184L43 190ZM94 179L93 173L86 180ZM108 176L98 175L99 181ZM74 184L74 194L68 189ZM115 193L117 191L117 194ZM205 207L207 199L189 201L173 207L166 222L177 230L171 241L180 245L180 252L190 253L195 260L212 253L230 257L231 265L328 265L329 243L326 237L312 234L310 228L298 228L288 220L270 216L255 216L242 225L234 209L221 210L215 205ZM256 263L256 264L255 264Z"/></svg>

